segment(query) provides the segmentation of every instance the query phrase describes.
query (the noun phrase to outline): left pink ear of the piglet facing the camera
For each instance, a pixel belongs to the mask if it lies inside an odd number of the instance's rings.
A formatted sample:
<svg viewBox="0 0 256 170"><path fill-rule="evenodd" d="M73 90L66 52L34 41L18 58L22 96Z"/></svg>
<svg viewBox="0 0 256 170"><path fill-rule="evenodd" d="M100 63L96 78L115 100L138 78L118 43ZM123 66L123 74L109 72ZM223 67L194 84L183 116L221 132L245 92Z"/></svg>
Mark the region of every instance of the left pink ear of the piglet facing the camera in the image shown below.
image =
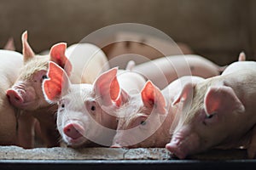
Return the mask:
<svg viewBox="0 0 256 170"><path fill-rule="evenodd" d="M44 97L50 103L55 103L61 98L61 95L67 94L70 86L67 73L54 62L49 61L48 79L44 79L43 93Z"/></svg>

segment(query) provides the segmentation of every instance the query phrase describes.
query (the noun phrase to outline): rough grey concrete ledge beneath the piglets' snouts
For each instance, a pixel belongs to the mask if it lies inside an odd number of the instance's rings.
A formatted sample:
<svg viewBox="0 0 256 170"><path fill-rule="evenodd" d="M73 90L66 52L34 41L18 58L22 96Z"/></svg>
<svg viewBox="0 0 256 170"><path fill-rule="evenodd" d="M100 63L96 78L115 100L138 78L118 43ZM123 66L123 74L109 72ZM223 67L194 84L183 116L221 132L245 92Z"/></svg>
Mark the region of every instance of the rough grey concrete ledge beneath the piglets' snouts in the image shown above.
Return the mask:
<svg viewBox="0 0 256 170"><path fill-rule="evenodd" d="M37 148L24 150L17 146L1 146L0 160L176 160L163 148L112 149L112 148ZM210 150L189 160L243 160L246 150Z"/></svg>

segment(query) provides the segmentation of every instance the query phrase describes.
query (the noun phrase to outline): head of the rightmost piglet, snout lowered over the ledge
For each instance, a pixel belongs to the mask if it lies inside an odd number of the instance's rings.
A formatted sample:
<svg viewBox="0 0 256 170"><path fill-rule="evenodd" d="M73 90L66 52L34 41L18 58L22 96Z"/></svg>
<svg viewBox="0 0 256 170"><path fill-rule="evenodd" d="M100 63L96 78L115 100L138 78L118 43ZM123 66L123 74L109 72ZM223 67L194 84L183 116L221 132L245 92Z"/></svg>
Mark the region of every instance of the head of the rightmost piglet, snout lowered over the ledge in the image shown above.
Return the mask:
<svg viewBox="0 0 256 170"><path fill-rule="evenodd" d="M188 107L189 86L180 95L184 99L183 107ZM166 149L180 159L226 144L232 133L236 133L232 125L234 117L245 111L234 90L224 84L194 88L189 108L188 112L183 112L171 142L166 144Z"/></svg>

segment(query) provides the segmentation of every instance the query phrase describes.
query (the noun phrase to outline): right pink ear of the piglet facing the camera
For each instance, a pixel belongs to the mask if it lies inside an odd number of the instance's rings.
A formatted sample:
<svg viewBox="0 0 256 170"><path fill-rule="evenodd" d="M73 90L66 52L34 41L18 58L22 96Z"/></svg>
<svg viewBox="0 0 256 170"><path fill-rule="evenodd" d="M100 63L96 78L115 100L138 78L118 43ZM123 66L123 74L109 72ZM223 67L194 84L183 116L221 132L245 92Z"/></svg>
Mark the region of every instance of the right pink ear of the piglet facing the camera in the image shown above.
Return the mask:
<svg viewBox="0 0 256 170"><path fill-rule="evenodd" d="M102 105L112 105L113 102L119 105L120 88L116 77L117 71L117 68L106 71L94 82L96 97L102 99Z"/></svg>

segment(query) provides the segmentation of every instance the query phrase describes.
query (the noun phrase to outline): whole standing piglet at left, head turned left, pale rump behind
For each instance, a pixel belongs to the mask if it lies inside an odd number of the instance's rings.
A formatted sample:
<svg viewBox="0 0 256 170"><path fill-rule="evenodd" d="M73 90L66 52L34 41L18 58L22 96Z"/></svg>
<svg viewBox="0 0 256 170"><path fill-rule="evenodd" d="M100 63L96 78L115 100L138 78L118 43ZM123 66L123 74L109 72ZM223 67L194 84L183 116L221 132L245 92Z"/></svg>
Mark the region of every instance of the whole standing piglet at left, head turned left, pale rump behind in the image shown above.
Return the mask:
<svg viewBox="0 0 256 170"><path fill-rule="evenodd" d="M93 56L96 58L105 59L105 55L99 54L99 48L91 46L92 49L86 55L86 51L83 54L77 54L76 48L73 48L70 53L70 60L65 55L67 44L57 43L49 52L49 55L35 55L29 43L27 42L27 32L22 34L22 45L23 45L23 58L24 65L20 71L20 77L17 78L15 84L7 90L7 96L9 102L20 110L21 114L19 117L19 140L20 146L24 148L33 147L33 128L35 118L38 119L41 127L41 133L44 137L44 143L48 147L59 145L59 133L55 125L55 111L57 105L49 105L45 101L42 92L42 82L47 78L48 63L49 61L55 62L60 65L67 72L67 75L74 83L79 82L90 82L93 78L90 72L86 69L87 74L83 73L82 65L87 62L88 65L94 65L90 61ZM78 46L79 50L81 46ZM89 50L89 48L86 48ZM94 50L93 50L94 49ZM95 53L93 53L95 51ZM95 55L96 54L96 55ZM78 62L80 61L80 62ZM101 67L102 65L102 67ZM105 64L101 63L98 65L95 63L96 71L103 68ZM84 65L84 69L86 65ZM87 75L90 75L88 79Z"/></svg>

